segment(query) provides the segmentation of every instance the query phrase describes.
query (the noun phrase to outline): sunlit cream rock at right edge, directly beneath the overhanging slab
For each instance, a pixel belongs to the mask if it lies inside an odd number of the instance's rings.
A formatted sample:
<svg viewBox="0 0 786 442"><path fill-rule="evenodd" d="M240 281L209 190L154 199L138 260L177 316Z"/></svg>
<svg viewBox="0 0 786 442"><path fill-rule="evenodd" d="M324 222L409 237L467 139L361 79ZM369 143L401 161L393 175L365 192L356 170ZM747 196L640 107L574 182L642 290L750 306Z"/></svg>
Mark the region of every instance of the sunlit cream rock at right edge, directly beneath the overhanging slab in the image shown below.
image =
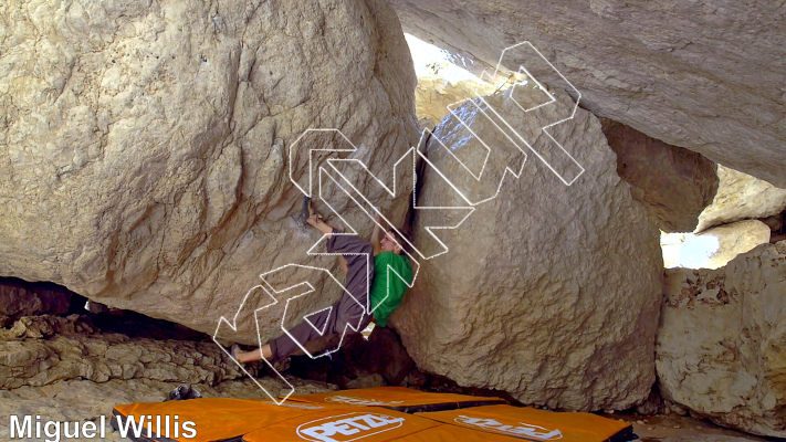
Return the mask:
<svg viewBox="0 0 786 442"><path fill-rule="evenodd" d="M786 210L786 189L723 166L717 167L717 176L721 179L717 194L699 217L696 232L734 221L767 218Z"/></svg>

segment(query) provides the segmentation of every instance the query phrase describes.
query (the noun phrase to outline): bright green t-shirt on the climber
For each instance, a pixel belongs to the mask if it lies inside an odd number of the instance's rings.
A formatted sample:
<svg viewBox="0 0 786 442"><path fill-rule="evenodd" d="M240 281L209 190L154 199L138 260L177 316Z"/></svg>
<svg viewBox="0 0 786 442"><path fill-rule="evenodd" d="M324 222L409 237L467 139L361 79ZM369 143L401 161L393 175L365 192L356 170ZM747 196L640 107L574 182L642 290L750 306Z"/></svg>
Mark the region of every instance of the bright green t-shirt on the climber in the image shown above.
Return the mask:
<svg viewBox="0 0 786 442"><path fill-rule="evenodd" d="M407 282L401 281L399 275ZM404 293L407 291L408 284L411 283L412 265L406 256L392 252L374 256L374 282L371 283L370 297L371 314L377 318L376 325L385 327L388 317L401 304Z"/></svg>

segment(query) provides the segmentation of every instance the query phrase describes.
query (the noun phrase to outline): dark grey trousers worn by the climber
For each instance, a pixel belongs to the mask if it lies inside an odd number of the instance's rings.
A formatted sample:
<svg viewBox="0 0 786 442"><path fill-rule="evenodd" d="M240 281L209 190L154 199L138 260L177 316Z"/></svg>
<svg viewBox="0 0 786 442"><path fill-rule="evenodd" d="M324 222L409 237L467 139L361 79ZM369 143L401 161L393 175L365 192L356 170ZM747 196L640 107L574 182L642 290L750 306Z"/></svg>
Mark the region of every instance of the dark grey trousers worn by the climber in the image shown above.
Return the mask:
<svg viewBox="0 0 786 442"><path fill-rule="evenodd" d="M366 314L366 305L368 305L368 290L374 280L374 246L360 238L335 233L342 232L337 229L334 230L333 236L327 241L327 252L340 253L347 262L347 278L344 283L346 291L342 294L340 299L333 304L329 312L325 309L308 316L316 328L325 330L324 336L340 335L345 328L347 334L355 333L352 327L357 328L357 333L360 333L371 322L371 315ZM349 293L360 304L355 302ZM292 328L290 334L303 346L322 336L305 320ZM297 351L300 347L284 334L270 341L270 349L273 352L273 358L279 360Z"/></svg>

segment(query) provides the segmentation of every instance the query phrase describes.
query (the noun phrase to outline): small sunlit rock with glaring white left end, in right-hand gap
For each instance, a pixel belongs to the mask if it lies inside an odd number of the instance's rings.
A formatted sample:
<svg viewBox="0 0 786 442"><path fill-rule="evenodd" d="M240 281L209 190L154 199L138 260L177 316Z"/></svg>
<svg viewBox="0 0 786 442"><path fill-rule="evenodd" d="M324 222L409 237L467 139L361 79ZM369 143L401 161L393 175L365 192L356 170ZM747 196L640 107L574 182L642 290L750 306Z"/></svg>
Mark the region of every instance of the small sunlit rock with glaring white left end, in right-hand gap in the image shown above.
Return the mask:
<svg viewBox="0 0 786 442"><path fill-rule="evenodd" d="M689 234L680 250L680 266L720 269L738 254L769 243L769 227L758 220L733 222Z"/></svg>

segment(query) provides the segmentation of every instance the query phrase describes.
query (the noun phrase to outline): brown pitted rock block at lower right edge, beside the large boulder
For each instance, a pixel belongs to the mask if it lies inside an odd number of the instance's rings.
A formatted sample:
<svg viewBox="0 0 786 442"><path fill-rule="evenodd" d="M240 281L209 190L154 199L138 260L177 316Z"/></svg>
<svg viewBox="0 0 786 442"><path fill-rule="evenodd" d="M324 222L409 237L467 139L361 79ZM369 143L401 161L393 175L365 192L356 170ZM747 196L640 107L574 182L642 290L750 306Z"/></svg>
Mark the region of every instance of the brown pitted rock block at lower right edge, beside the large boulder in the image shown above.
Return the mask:
<svg viewBox="0 0 786 442"><path fill-rule="evenodd" d="M719 270L667 270L664 291L663 398L721 425L786 436L786 242Z"/></svg>

